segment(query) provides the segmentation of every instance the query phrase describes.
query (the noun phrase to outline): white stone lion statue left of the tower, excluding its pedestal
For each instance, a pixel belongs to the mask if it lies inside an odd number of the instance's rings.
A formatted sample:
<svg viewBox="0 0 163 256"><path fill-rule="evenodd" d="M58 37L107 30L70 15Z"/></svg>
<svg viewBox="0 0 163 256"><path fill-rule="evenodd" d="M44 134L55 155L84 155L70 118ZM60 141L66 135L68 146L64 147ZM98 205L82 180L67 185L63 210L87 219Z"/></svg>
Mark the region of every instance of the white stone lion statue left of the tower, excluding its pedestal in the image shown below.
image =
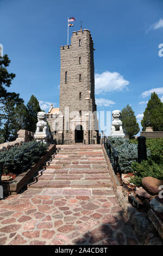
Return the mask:
<svg viewBox="0 0 163 256"><path fill-rule="evenodd" d="M38 122L36 124L36 133L49 133L49 127L46 121L46 113L45 112L38 112L37 113Z"/></svg>

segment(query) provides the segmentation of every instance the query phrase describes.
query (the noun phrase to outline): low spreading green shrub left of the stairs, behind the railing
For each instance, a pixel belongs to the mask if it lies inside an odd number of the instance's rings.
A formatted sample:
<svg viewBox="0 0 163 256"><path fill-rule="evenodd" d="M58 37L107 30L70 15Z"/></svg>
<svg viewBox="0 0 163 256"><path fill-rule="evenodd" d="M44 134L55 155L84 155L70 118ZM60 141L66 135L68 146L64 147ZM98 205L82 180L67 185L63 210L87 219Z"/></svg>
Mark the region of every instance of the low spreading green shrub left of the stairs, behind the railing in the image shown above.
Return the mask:
<svg viewBox="0 0 163 256"><path fill-rule="evenodd" d="M22 145L16 145L15 147L4 150L0 152L0 163L3 164L3 173L8 174L9 172L14 174L19 174L22 172L23 167L26 167L31 161L32 163L39 160L39 154L41 151L45 152L47 149L47 144L41 143L37 144L35 147L35 152L33 149L29 150L27 153L24 153L23 159L19 157L17 160L14 161L14 158L23 151L27 150L29 147L32 147L36 144L36 141L26 142ZM30 164L30 166L32 165ZM30 167L29 166L29 167Z"/></svg>

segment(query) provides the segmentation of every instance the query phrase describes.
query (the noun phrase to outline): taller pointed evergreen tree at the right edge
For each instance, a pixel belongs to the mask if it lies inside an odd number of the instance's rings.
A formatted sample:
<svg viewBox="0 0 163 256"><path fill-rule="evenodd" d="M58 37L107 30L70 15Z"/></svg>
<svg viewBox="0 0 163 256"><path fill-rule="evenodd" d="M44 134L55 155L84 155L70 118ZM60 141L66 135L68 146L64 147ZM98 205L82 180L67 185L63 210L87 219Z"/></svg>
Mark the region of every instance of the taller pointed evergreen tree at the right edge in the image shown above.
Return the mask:
<svg viewBox="0 0 163 256"><path fill-rule="evenodd" d="M151 99L149 99L143 114L142 131L145 131L146 127L149 126L152 127L153 131L163 131L163 103L155 92L151 94Z"/></svg>

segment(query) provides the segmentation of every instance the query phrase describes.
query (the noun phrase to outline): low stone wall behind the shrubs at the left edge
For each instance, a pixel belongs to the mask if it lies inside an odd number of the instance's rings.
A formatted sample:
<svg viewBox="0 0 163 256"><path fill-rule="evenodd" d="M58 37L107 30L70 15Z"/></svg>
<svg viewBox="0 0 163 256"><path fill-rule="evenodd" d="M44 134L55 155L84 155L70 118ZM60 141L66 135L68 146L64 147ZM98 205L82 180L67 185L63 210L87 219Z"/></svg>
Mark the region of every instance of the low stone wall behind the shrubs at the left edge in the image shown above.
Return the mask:
<svg viewBox="0 0 163 256"><path fill-rule="evenodd" d="M18 138L12 142L5 142L0 144L0 151L5 149L10 149L11 147L15 147L16 145L21 145L24 142L32 141L34 132L30 132L27 130L20 130L17 132Z"/></svg>

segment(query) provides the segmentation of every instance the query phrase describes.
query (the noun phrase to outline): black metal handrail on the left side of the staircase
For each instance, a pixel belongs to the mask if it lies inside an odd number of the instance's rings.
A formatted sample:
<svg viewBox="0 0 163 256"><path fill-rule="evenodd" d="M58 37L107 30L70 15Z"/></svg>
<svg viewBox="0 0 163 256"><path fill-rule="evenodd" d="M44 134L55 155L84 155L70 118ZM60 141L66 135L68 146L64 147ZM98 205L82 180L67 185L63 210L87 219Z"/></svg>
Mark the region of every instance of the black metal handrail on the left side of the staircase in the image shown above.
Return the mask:
<svg viewBox="0 0 163 256"><path fill-rule="evenodd" d="M42 146L43 146L43 141L44 141L45 139L47 139L48 137L50 137L50 141L48 142L48 144L52 144L52 142L54 141L53 135L54 135L54 132L51 132L51 133L50 133L49 135L47 135L45 138L41 139L39 142L36 142L36 143L35 143L34 145L32 145L31 147L29 147L28 149L24 150L21 154L19 154L19 155L17 155L16 157L14 157L14 159L11 160L11 161L16 161L17 159L19 159L20 157L22 157L22 167L23 167L23 157L24 157L24 154L26 154L29 150L32 150L32 149L33 149L33 151L35 152L36 146L37 146L38 144L40 144L40 143L42 143ZM43 151L41 151L40 154L37 155L37 157L40 156L40 155L42 154L42 152L43 152ZM33 160L30 161L30 162L27 164L27 166L23 167L23 168L22 168L22 172L23 172L23 170L25 170L32 162L33 162ZM3 170L4 164L1 163L0 166L1 166L1 168L0 168L0 182L1 182L2 170Z"/></svg>

